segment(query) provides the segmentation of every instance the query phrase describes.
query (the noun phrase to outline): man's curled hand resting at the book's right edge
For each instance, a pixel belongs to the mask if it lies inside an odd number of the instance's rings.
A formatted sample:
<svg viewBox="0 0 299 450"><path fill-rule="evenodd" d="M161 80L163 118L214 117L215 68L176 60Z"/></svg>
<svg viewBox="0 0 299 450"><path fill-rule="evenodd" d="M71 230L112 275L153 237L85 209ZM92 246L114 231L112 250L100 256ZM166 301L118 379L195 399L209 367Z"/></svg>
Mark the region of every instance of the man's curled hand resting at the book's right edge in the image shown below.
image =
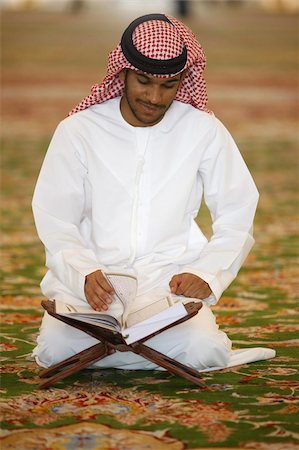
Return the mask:
<svg viewBox="0 0 299 450"><path fill-rule="evenodd" d="M208 283L192 273L180 273L170 280L171 292L176 295L184 295L192 298L206 298L212 291Z"/></svg>

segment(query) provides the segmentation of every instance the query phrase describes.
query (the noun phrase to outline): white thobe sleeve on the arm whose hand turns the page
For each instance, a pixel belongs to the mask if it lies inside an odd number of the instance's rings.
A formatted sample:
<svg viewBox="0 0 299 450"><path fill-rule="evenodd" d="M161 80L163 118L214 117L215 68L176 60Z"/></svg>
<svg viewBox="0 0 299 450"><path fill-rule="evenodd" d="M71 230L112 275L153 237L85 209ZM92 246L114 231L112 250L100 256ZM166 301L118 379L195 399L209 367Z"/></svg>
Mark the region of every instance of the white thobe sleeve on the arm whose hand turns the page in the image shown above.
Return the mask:
<svg viewBox="0 0 299 450"><path fill-rule="evenodd" d="M85 276L100 269L80 233L84 220L87 167L65 130L58 126L35 187L32 208L46 265L76 296L85 299Z"/></svg>

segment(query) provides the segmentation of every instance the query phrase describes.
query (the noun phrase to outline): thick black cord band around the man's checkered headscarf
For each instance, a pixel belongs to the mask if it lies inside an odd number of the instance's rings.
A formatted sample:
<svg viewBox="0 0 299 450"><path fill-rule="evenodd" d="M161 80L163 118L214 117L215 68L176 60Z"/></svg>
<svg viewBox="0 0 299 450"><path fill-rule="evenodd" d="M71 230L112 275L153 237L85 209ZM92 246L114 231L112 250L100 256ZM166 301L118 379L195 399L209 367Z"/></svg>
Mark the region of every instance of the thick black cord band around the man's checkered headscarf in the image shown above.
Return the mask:
<svg viewBox="0 0 299 450"><path fill-rule="evenodd" d="M151 73L154 75L171 75L181 72L187 62L187 49L183 47L182 53L171 59L154 59L148 58L140 53L133 44L133 32L138 25L150 20L163 20L164 22L171 21L164 14L147 14L145 16L135 19L124 31L121 38L121 48L126 59L136 69L142 72ZM172 23L171 23L172 24Z"/></svg>

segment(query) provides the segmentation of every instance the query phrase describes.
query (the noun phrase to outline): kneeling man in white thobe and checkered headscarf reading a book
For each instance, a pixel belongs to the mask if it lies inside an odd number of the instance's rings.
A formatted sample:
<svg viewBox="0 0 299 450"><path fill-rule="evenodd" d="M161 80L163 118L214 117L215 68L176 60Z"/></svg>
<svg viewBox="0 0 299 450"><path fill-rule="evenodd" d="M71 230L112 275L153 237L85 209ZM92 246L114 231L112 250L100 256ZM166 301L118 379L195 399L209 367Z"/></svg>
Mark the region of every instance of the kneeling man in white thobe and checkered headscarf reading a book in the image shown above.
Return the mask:
<svg viewBox="0 0 299 450"><path fill-rule="evenodd" d="M142 16L109 55L107 76L58 126L33 210L49 269L48 298L113 308L105 273L134 273L132 310L172 295L204 306L147 345L199 371L267 359L269 349L231 350L210 305L253 245L258 193L228 131L206 110L205 55L194 34L163 14ZM194 219L202 195L208 242ZM34 356L49 367L96 343L44 316ZM96 367L155 369L115 353Z"/></svg>

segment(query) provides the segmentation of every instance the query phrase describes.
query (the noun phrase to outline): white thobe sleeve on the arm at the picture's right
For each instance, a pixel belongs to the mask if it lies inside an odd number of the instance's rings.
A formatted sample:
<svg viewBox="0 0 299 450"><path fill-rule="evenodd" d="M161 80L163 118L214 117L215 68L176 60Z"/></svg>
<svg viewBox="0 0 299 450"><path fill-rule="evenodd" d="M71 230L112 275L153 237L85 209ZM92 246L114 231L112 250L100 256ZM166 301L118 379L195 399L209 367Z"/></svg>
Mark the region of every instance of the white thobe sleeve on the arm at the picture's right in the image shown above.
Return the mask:
<svg viewBox="0 0 299 450"><path fill-rule="evenodd" d="M258 191L229 132L217 120L213 138L200 162L204 199L212 217L213 234L200 258L183 271L206 281L215 304L236 277L251 250Z"/></svg>

